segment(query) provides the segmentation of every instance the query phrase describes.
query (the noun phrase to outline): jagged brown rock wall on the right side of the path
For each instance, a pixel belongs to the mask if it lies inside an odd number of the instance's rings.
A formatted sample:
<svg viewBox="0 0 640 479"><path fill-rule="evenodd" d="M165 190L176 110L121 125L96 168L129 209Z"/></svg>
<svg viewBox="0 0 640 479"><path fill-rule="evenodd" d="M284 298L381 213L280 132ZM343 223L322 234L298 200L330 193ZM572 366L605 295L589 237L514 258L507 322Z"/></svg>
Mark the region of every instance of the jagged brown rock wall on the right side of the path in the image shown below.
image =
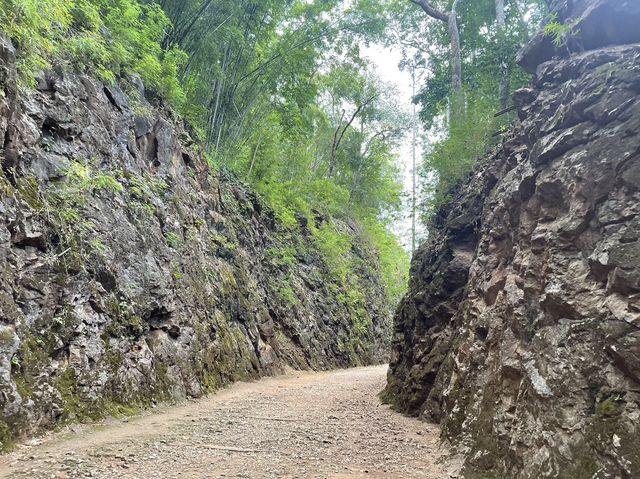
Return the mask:
<svg viewBox="0 0 640 479"><path fill-rule="evenodd" d="M637 45L537 65L414 257L383 397L467 478L640 477L639 78Z"/></svg>

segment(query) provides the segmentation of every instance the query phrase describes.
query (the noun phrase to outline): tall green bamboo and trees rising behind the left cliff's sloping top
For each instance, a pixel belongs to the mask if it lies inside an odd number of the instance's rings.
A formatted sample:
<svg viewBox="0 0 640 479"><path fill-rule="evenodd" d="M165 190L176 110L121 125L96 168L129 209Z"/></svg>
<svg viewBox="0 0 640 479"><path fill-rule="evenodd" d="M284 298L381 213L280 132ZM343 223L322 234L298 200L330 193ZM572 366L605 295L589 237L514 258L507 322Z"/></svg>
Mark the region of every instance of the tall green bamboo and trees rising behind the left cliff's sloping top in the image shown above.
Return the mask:
<svg viewBox="0 0 640 479"><path fill-rule="evenodd" d="M377 221L401 203L393 149L406 118L360 55L358 37L371 18L343 15L335 8L340 4L241 0L205 8L202 0L163 2L176 26L165 44L190 55L185 115L216 167L246 179L287 228L313 229L317 215ZM333 49L341 61L324 58ZM323 64L326 73L319 75ZM342 110L353 112L369 98L347 126ZM344 277L332 255L336 237L328 231L314 234L329 253L330 268Z"/></svg>

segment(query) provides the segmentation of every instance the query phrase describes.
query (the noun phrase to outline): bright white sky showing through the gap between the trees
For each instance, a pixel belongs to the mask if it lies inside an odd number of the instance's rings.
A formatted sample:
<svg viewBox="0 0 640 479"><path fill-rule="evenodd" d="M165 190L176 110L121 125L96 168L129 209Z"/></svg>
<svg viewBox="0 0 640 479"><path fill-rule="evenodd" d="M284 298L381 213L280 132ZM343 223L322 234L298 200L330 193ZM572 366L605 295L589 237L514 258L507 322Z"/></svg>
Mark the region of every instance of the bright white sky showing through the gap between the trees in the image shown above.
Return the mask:
<svg viewBox="0 0 640 479"><path fill-rule="evenodd" d="M411 112L412 85L411 74L409 71L401 71L398 65L402 60L402 54L399 50L384 47L382 45L371 45L363 47L364 56L376 66L376 73L386 83L396 85L399 92L398 101L400 106L407 112ZM420 135L420 133L418 133ZM400 165L403 173L404 189L407 193L407 199L411 198L411 134L408 133L398 151ZM420 164L422 159L422 149L418 142L416 152L416 162ZM407 202L404 208L405 214L402 221L397 224L396 234L400 237L405 248L411 250L411 211L410 204Z"/></svg>

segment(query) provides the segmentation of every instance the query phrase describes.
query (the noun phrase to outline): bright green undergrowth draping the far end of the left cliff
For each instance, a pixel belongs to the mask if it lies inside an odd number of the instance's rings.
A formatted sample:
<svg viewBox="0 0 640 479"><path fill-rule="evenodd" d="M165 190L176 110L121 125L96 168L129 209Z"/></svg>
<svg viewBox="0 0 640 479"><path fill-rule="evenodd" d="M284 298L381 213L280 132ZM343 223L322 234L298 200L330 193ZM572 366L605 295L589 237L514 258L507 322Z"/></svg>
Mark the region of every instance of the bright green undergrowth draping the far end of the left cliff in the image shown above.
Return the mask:
<svg viewBox="0 0 640 479"><path fill-rule="evenodd" d="M376 218L331 215L326 210L312 210L301 195L292 202L287 201L288 197L284 195L277 201L272 201L271 196L265 198L280 219L278 241L265 251L265 260L276 271L270 279L272 290L286 308L297 308L308 296L299 280L298 265L310 261L322 265L321 276L307 271L305 274L311 277L306 281L324 289L335 299L333 307L346 312L349 336L338 338L338 350L351 364L365 364L374 353L370 306L378 300L393 305L404 294L407 254Z"/></svg>

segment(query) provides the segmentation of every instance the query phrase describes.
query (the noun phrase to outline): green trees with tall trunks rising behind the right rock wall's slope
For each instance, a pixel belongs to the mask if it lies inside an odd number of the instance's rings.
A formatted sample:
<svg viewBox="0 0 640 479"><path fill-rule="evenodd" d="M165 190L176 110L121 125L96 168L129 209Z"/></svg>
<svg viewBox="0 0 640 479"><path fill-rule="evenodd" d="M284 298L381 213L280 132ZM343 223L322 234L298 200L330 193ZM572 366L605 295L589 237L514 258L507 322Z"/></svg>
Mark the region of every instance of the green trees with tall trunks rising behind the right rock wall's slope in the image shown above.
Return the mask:
<svg viewBox="0 0 640 479"><path fill-rule="evenodd" d="M526 86L528 75L516 63L517 52L538 28L546 5L541 0L505 2L505 24L499 26L494 0L460 2L463 92L451 85L450 36L445 22L435 20L411 2L390 0L396 16L390 23L404 45L404 64L415 68L423 86L414 101L421 106L429 145L422 165L423 218L430 223L449 193L490 150L513 114L493 114L508 106L509 93ZM446 11L447 2L438 5ZM501 97L501 87L506 96ZM434 141L435 140L435 141Z"/></svg>

